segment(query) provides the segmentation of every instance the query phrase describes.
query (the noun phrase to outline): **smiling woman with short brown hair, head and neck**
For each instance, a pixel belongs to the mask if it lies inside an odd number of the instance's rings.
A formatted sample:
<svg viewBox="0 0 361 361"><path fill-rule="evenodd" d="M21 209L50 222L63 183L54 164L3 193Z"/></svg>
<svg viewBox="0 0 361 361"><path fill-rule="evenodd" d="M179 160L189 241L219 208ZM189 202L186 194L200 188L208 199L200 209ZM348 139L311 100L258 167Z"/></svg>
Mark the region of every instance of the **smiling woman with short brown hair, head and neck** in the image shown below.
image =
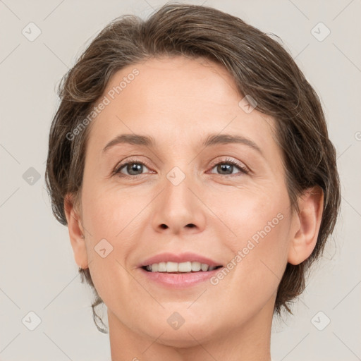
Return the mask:
<svg viewBox="0 0 361 361"><path fill-rule="evenodd" d="M239 18L167 4L107 25L59 95L47 187L112 360L270 360L273 314L340 202L292 57Z"/></svg>

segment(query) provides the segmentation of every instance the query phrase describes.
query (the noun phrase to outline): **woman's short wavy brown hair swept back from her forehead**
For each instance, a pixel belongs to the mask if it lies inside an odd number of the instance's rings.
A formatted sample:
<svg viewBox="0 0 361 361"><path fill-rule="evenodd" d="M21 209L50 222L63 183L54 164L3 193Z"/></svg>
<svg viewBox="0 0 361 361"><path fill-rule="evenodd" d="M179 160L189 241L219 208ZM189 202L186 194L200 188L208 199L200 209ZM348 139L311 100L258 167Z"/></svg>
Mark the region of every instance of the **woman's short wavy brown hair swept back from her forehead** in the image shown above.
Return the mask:
<svg viewBox="0 0 361 361"><path fill-rule="evenodd" d="M273 35L273 34L271 34ZM51 123L45 173L56 219L67 224L64 201L69 193L80 204L87 137L92 123L73 139L67 136L90 114L116 71L157 57L202 57L221 64L233 76L241 95L257 101L257 110L276 120L286 185L293 211L298 196L313 186L324 193L317 244L304 262L287 264L277 290L274 313L305 289L305 276L334 231L340 206L336 150L329 140L322 106L286 49L267 33L240 18L207 6L166 4L147 20L120 16L104 27L59 84L61 103ZM103 301L90 270L80 269L92 286L94 307ZM99 331L104 332L99 328Z"/></svg>

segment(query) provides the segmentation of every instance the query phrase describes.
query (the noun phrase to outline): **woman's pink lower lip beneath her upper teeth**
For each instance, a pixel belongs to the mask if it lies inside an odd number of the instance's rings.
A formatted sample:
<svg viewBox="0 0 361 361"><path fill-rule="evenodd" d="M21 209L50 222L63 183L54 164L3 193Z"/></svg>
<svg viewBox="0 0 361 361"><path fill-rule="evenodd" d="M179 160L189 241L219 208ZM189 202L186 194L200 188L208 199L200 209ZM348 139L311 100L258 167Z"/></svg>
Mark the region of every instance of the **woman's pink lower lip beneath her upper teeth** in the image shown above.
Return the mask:
<svg viewBox="0 0 361 361"><path fill-rule="evenodd" d="M147 280L154 281L161 286L169 288L188 288L195 286L209 280L220 270L221 268L213 269L212 271L190 272L187 274L169 274L166 272L149 272L140 268L140 271Z"/></svg>

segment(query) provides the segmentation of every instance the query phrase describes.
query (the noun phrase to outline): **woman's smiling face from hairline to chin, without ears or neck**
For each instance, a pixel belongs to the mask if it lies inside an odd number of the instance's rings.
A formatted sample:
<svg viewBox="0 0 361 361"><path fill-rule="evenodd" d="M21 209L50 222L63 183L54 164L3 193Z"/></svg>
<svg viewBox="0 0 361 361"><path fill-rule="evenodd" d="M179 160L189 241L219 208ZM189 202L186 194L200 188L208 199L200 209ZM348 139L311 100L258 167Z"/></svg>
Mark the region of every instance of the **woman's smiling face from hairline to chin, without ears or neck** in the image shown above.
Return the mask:
<svg viewBox="0 0 361 361"><path fill-rule="evenodd" d="M109 322L178 346L270 322L294 224L274 119L240 103L231 75L204 59L128 66L104 96L76 256ZM112 142L121 135L133 138Z"/></svg>

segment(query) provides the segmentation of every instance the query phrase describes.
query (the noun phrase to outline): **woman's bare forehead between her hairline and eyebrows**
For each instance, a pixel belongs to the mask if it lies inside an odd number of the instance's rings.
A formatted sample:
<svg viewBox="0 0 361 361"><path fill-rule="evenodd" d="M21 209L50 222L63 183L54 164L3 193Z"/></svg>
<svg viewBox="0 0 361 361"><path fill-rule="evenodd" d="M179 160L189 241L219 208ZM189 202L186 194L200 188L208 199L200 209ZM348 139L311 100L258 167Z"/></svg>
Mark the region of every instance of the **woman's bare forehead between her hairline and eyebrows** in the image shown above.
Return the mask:
<svg viewBox="0 0 361 361"><path fill-rule="evenodd" d="M88 147L99 153L122 133L149 135L159 147L204 143L210 133L247 136L270 152L274 119L246 113L235 81L221 65L183 56L148 59L116 72L99 102ZM273 149L275 150L275 149Z"/></svg>

